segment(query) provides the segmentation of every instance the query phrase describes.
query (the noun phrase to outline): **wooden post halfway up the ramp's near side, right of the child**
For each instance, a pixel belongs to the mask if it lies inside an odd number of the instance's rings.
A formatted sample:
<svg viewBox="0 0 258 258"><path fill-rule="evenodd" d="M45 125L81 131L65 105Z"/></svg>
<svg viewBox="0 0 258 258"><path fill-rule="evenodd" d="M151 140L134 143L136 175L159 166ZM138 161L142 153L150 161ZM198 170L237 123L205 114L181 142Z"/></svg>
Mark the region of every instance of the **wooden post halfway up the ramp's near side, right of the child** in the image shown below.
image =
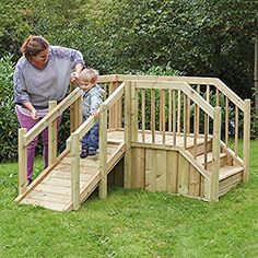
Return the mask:
<svg viewBox="0 0 258 258"><path fill-rule="evenodd" d="M101 181L98 196L101 199L107 197L107 106L99 106L99 168Z"/></svg>

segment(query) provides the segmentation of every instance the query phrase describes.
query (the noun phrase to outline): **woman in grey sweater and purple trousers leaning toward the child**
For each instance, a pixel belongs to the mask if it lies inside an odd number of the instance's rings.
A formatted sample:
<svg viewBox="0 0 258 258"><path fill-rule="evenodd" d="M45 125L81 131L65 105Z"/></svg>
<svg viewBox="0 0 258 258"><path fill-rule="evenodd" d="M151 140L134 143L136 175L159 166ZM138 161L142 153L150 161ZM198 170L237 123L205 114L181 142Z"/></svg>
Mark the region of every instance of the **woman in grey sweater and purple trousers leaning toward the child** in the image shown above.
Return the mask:
<svg viewBox="0 0 258 258"><path fill-rule="evenodd" d="M83 69L80 51L50 46L42 36L30 36L21 47L23 56L14 71L15 110L21 127L30 130L48 112L48 102L66 96L69 81L77 82ZM60 118L58 119L58 128ZM44 163L48 165L48 129L42 132ZM27 145L27 184L33 179L33 163L38 137Z"/></svg>

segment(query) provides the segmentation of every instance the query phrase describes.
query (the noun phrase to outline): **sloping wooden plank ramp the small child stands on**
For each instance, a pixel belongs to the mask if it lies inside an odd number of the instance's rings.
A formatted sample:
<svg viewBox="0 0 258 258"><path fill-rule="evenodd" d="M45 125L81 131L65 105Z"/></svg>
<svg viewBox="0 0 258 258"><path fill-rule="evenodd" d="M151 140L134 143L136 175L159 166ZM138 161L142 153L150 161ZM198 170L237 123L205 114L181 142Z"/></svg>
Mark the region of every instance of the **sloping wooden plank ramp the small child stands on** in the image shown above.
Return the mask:
<svg viewBox="0 0 258 258"><path fill-rule="evenodd" d="M126 151L124 142L114 139L107 145L107 173L120 161ZM84 202L96 189L101 180L98 155L80 159L80 202ZM44 207L49 210L72 210L71 201L71 157L70 152L57 161L50 169L43 172L28 187L26 192L19 196L20 203Z"/></svg>

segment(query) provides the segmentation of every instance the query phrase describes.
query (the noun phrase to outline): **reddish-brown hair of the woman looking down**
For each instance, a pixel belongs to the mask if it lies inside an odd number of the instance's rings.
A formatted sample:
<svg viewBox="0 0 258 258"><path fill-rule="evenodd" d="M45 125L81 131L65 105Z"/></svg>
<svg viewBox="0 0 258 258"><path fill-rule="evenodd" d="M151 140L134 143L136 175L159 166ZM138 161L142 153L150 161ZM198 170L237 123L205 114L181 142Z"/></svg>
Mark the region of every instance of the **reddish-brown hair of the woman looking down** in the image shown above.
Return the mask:
<svg viewBox="0 0 258 258"><path fill-rule="evenodd" d="M49 43L42 36L28 36L21 47L21 52L27 58L49 48Z"/></svg>

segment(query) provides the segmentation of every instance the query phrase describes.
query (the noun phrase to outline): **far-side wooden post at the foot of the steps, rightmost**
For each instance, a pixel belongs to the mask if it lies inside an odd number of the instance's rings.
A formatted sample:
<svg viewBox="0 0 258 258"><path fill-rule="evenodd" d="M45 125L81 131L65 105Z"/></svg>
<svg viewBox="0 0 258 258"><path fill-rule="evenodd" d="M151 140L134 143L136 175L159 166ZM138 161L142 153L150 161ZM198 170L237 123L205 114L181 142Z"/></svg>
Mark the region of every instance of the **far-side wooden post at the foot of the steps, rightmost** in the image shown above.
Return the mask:
<svg viewBox="0 0 258 258"><path fill-rule="evenodd" d="M244 175L243 181L249 179L249 149L250 149L250 99L245 99L244 112L244 141L243 141L243 159L244 159Z"/></svg>

